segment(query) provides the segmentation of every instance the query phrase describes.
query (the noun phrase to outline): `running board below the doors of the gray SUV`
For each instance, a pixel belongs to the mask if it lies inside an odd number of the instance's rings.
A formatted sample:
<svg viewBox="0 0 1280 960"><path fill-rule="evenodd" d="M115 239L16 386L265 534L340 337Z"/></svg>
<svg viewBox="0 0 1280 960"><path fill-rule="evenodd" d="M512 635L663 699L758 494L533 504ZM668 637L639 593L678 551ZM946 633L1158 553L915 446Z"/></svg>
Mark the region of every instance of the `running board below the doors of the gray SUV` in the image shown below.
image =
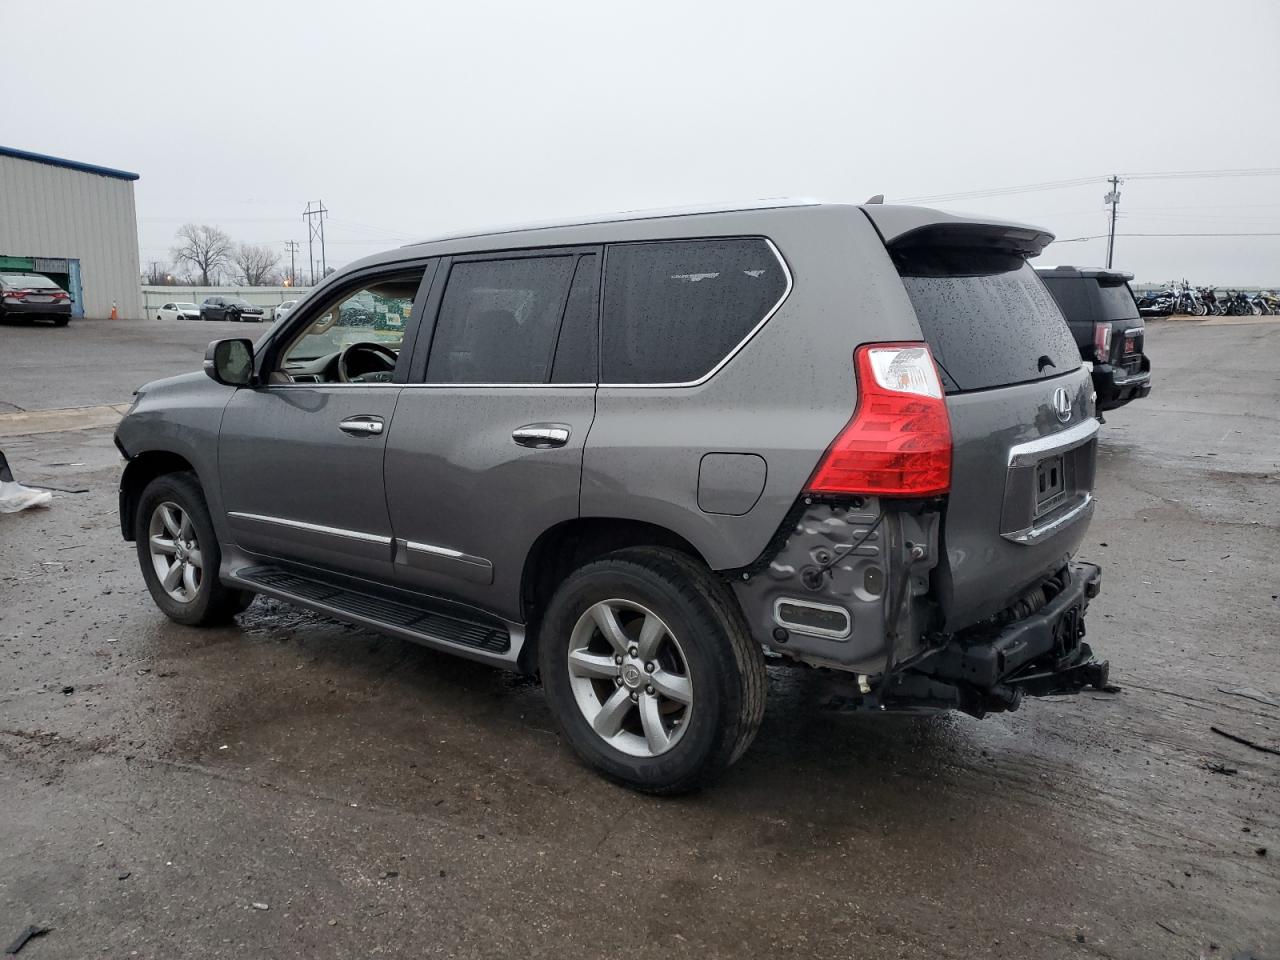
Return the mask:
<svg viewBox="0 0 1280 960"><path fill-rule="evenodd" d="M392 600L283 567L239 567L230 579L255 593L486 663L515 667L525 640L517 623L480 614L466 618L453 609Z"/></svg>

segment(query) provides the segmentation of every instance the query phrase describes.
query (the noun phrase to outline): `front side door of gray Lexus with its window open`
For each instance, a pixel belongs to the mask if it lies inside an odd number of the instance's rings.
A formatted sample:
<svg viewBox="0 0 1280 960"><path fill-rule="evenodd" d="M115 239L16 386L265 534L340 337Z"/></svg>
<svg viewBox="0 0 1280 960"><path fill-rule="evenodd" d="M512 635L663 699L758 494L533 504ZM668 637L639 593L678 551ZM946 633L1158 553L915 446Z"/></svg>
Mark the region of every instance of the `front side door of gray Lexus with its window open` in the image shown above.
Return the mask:
<svg viewBox="0 0 1280 960"><path fill-rule="evenodd" d="M298 310L264 348L262 385L237 390L219 438L241 549L392 580L383 456L422 275L419 266L344 285Z"/></svg>

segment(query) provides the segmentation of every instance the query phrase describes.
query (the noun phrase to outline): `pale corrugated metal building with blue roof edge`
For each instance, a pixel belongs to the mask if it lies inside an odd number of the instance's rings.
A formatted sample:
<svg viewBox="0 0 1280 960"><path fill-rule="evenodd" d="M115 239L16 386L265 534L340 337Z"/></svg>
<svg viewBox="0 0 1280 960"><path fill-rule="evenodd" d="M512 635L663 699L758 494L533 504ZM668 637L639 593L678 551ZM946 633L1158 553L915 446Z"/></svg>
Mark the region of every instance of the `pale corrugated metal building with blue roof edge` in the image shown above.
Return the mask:
<svg viewBox="0 0 1280 960"><path fill-rule="evenodd" d="M0 146L0 270L72 294L73 316L143 316L138 174Z"/></svg>

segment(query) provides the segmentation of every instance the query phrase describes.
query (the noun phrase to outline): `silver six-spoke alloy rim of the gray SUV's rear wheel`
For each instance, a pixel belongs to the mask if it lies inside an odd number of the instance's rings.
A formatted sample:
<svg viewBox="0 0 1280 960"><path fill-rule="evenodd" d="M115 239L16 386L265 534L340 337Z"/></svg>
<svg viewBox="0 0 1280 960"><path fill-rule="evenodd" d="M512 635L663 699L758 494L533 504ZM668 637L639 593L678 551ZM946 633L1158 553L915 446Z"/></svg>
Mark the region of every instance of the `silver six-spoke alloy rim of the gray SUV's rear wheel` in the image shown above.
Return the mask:
<svg viewBox="0 0 1280 960"><path fill-rule="evenodd" d="M659 756L689 728L694 686L680 641L649 608L600 600L568 641L570 686L596 736L631 756Z"/></svg>

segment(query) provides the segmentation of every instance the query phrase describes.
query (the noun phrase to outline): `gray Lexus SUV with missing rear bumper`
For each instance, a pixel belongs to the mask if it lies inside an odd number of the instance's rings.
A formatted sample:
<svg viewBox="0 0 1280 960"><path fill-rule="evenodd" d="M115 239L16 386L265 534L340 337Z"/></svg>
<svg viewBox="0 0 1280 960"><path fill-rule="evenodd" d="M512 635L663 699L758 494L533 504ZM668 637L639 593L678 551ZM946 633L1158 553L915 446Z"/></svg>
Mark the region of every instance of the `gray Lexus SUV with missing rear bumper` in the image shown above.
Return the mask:
<svg viewBox="0 0 1280 960"><path fill-rule="evenodd" d="M180 623L265 594L538 673L650 792L746 750L767 664L876 712L1102 685L1050 239L812 204L370 257L138 390L122 531Z"/></svg>

